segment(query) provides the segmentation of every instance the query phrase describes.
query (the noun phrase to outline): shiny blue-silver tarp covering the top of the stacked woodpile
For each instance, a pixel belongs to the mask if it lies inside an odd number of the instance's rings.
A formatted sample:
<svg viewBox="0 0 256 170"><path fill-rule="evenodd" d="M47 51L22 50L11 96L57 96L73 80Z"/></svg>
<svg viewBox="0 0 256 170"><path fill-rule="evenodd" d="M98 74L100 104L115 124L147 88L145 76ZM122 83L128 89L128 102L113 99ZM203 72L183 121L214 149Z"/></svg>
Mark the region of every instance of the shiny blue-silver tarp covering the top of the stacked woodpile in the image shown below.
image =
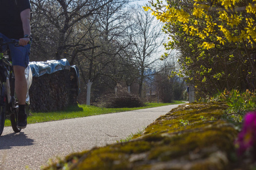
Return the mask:
<svg viewBox="0 0 256 170"><path fill-rule="evenodd" d="M28 64L31 68L33 76L42 76L44 74L52 74L59 70L70 70L70 64L67 59L48 60L46 62L30 62Z"/></svg>

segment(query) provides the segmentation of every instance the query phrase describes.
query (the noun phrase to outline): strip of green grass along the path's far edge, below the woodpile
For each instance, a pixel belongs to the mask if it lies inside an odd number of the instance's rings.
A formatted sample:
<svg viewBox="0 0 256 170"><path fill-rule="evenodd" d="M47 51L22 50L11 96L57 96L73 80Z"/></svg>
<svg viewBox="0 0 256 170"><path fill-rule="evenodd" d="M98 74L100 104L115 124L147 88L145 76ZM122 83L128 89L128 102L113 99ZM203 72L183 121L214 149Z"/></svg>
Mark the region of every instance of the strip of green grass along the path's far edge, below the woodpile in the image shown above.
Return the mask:
<svg viewBox="0 0 256 170"><path fill-rule="evenodd" d="M182 103L183 103L182 101L174 101L174 103L159 103L159 104L147 103L145 107L140 107L140 108L100 108L100 107L94 107L91 105L79 104L76 106L70 106L66 108L64 111L30 113L31 115L28 116L27 122L28 124L36 124L39 122L57 121L57 120L64 120L68 118L94 116L94 115L107 114L107 113L134 111L138 109L161 107L164 105L182 104ZM6 120L5 126L11 126L11 122L9 120Z"/></svg>

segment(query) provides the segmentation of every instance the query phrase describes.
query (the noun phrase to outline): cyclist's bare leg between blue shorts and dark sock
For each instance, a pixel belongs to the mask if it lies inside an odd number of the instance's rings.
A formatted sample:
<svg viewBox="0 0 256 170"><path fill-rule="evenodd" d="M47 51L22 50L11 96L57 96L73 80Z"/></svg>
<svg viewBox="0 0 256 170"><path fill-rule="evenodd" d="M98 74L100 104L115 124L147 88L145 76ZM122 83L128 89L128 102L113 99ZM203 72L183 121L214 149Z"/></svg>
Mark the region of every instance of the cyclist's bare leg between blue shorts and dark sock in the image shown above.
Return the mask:
<svg viewBox="0 0 256 170"><path fill-rule="evenodd" d="M19 105L26 104L27 80L25 68L22 66L13 66L15 75L15 92L18 97Z"/></svg>

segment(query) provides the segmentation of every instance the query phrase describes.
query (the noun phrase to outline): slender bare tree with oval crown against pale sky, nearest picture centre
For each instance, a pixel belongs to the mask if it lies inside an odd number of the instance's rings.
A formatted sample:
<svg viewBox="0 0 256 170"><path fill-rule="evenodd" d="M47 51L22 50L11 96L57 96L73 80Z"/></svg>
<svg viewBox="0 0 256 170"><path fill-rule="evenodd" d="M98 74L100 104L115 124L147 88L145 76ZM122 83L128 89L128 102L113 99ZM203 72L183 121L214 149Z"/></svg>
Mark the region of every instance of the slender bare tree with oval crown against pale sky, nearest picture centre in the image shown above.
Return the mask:
<svg viewBox="0 0 256 170"><path fill-rule="evenodd" d="M144 11L141 6L137 6L134 11L135 27L131 30L130 50L133 52L133 59L139 70L139 96L142 97L143 81L146 69L151 69L160 58L158 54L164 41L162 25L150 14Z"/></svg>

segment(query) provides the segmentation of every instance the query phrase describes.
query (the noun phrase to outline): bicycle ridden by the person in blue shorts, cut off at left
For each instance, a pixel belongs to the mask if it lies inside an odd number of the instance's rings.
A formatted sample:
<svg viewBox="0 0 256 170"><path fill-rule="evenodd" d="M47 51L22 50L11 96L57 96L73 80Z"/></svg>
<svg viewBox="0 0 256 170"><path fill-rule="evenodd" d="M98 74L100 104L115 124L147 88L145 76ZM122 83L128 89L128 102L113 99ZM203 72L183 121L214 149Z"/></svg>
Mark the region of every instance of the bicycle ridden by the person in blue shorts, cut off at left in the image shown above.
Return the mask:
<svg viewBox="0 0 256 170"><path fill-rule="evenodd" d="M6 118L11 121L15 133L21 130L17 128L19 105L15 97L15 76L11 54L9 49L3 51L3 45L14 44L18 46L18 43L18 40L3 42L2 37L0 37L0 135L3 133Z"/></svg>

